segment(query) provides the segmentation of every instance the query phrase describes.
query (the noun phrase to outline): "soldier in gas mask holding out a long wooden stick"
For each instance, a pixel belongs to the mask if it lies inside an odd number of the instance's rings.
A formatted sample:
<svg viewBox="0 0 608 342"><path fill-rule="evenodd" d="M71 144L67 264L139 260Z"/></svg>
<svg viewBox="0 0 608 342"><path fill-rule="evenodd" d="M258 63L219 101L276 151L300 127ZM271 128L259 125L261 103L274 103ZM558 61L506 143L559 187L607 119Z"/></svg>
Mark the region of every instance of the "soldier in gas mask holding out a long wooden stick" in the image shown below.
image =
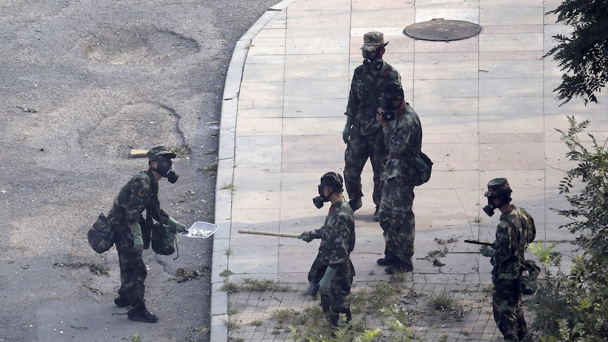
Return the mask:
<svg viewBox="0 0 608 342"><path fill-rule="evenodd" d="M345 315L347 322L351 321L351 305L347 296L351 293L355 276L350 259L355 248L355 219L351 206L342 195L342 183L338 173L328 172L321 177L320 196L313 201L317 207L322 207L323 202L331 202L332 206L321 228L305 231L299 236L308 243L315 238L321 239L308 280L318 284L325 319L332 327L338 325L340 314Z"/></svg>

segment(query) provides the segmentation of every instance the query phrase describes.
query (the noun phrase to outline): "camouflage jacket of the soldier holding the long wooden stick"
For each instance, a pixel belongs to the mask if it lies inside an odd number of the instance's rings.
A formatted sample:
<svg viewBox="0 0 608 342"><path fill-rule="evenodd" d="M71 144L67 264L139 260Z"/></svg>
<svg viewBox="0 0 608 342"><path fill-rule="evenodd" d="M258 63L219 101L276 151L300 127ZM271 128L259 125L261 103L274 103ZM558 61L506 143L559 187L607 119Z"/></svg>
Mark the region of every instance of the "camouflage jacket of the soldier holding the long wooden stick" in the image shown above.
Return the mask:
<svg viewBox="0 0 608 342"><path fill-rule="evenodd" d="M325 224L310 232L312 238L320 238L319 252L310 267L308 280L318 283L328 266L338 270L335 278L348 278L355 275L350 255L355 248L355 219L353 209L345 199L329 208Z"/></svg>

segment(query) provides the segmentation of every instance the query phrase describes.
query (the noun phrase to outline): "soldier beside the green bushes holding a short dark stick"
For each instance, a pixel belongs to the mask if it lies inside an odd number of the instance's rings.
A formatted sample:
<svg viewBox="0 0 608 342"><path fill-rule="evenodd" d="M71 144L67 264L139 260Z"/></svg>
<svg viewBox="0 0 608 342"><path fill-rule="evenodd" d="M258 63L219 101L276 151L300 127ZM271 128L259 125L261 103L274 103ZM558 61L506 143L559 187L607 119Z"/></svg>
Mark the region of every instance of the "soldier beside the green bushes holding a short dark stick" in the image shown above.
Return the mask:
<svg viewBox="0 0 608 342"><path fill-rule="evenodd" d="M492 257L492 312L504 341L526 341L528 328L521 308L519 290L520 259L528 243L536 237L534 219L523 208L511 204L511 187L506 178L494 178L487 183L488 205L484 212L492 216L494 209L501 212L492 248L483 246L482 255Z"/></svg>

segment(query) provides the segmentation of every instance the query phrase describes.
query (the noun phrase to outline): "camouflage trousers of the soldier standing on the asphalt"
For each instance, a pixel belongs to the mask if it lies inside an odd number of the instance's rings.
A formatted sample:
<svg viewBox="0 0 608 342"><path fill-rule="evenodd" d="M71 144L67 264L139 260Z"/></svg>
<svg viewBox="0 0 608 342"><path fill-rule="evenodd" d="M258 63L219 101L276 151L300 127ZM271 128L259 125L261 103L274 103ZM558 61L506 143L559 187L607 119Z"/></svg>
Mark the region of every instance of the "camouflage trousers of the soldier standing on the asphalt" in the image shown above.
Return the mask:
<svg viewBox="0 0 608 342"><path fill-rule="evenodd" d="M131 310L145 310L145 286L147 276L141 250L133 250L133 234L128 227L118 227L115 236L118 264L121 267L121 287L118 295L129 300Z"/></svg>

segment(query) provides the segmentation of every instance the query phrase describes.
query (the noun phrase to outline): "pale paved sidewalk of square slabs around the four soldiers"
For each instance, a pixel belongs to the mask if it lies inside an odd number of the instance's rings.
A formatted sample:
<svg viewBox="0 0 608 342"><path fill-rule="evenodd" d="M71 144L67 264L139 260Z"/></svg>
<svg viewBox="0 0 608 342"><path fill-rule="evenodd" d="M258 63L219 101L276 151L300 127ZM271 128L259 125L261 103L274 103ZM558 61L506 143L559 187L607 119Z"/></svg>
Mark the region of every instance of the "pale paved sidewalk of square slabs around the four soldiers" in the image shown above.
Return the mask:
<svg viewBox="0 0 608 342"><path fill-rule="evenodd" d="M270 279L303 289L318 243L237 233L253 229L300 233L322 226L326 208L312 197L327 171L343 171L341 130L348 87L362 57L363 34L384 32L384 60L401 73L406 100L424 130L422 150L434 161L429 183L415 190L414 271L408 288L450 292L474 305L456 325L420 320L413 329L427 341L497 341L491 310L489 259L464 239L494 240L497 216L485 216L487 181L506 177L513 203L534 216L537 241L567 241L564 219L550 208L567 207L558 194L570 165L554 128L566 115L589 119L605 138L605 93L600 104L580 100L559 106L557 63L541 57L566 32L545 13L557 0L288 0L271 8L243 36L229 67L221 113L216 224L212 269L211 341L286 341L272 328L277 308L315 303L301 292L228 295L229 280ZM412 23L432 18L466 20L479 35L451 42L403 35ZM375 260L382 230L373 220L372 172L363 177L363 208L355 213L357 244L351 255L355 288L388 279ZM451 241L446 243L446 241ZM559 246L569 250L569 244ZM430 253L445 251L433 265ZM528 255L534 258L533 255ZM239 326L230 333L225 322ZM262 322L253 326L253 320ZM443 340L445 341L445 340Z"/></svg>

